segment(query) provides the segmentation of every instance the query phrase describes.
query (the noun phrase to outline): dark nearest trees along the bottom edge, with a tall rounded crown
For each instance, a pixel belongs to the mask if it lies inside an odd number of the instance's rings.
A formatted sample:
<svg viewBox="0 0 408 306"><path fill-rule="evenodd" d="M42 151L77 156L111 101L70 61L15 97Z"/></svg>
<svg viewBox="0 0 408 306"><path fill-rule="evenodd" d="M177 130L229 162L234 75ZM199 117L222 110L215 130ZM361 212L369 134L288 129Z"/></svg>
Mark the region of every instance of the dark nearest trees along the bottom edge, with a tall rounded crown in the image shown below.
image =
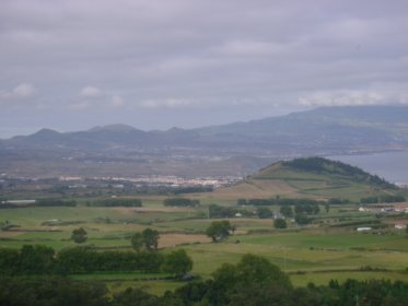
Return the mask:
<svg viewBox="0 0 408 306"><path fill-rule="evenodd" d="M140 289L107 294L102 283L57 279L0 279L1 305L102 305L102 306L194 306L194 305L284 305L349 306L408 305L408 283L403 281L355 281L293 287L290 279L267 259L245 255L236 264L224 263L212 278L189 282L163 296Z"/></svg>

